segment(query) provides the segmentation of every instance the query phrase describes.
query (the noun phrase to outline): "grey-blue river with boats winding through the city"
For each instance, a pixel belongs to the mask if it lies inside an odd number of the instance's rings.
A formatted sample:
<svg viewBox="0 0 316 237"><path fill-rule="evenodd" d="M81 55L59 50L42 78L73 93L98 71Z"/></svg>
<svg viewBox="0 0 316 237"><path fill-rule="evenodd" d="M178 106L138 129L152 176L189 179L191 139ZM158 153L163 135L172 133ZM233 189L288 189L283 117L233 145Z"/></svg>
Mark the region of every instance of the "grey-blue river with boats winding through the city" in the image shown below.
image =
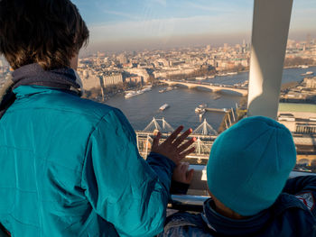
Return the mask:
<svg viewBox="0 0 316 237"><path fill-rule="evenodd" d="M316 67L284 69L282 82L301 81L303 78L301 74L306 71L316 73ZM248 72L243 72L234 76L215 77L204 80L204 82L233 85L246 81L248 76ZM195 107L207 104L208 107L212 108L235 108L241 99L241 96L236 94L219 94L210 92L209 90L188 89L186 87L178 87L169 92L159 93L159 90L162 88L153 87L153 90L150 92L128 99L125 99L124 95L114 96L108 99L106 104L121 109L135 130L144 130L146 125L153 120L153 117L157 119L164 118L173 128L182 124L185 128L192 128L193 130L206 119L215 130L218 130L224 114L207 112L200 119L199 115L194 112ZM220 97L214 100L218 96ZM159 107L163 104L168 104L170 107L160 112Z"/></svg>

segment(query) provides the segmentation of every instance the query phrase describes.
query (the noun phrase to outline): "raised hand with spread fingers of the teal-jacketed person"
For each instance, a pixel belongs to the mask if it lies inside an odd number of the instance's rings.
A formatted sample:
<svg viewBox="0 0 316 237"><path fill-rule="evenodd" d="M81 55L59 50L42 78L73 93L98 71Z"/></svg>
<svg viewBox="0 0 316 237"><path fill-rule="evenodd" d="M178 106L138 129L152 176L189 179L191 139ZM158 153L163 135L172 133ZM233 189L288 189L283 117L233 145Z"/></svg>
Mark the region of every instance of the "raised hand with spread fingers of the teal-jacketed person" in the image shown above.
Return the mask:
<svg viewBox="0 0 316 237"><path fill-rule="evenodd" d="M191 138L190 141L181 144L192 132L192 129L188 129L178 137L182 129L183 126L178 127L162 144L159 144L162 133L158 132L157 136L153 138L152 151L162 154L178 165L183 158L195 150L194 147L189 150L187 149L196 141L196 138Z"/></svg>

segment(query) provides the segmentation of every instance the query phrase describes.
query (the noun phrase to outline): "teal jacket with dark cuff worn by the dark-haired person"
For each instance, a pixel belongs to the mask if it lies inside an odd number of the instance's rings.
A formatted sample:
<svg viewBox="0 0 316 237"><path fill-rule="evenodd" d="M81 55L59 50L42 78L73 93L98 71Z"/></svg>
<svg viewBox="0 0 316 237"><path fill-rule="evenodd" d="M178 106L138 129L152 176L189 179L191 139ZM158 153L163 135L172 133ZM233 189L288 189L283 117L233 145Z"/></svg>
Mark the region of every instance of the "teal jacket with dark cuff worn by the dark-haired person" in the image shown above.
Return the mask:
<svg viewBox="0 0 316 237"><path fill-rule="evenodd" d="M118 109L21 86L0 120L0 223L13 236L153 236L174 163L138 153Z"/></svg>

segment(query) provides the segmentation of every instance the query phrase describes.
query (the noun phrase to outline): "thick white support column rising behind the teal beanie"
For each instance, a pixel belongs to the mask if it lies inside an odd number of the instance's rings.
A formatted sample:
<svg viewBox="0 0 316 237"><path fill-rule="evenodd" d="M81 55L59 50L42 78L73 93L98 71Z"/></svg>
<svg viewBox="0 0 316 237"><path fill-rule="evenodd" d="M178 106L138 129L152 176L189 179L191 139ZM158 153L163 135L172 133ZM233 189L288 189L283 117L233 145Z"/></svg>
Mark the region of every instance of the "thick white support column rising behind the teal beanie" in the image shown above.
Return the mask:
<svg viewBox="0 0 316 237"><path fill-rule="evenodd" d="M293 0L255 0L248 116L276 118Z"/></svg>

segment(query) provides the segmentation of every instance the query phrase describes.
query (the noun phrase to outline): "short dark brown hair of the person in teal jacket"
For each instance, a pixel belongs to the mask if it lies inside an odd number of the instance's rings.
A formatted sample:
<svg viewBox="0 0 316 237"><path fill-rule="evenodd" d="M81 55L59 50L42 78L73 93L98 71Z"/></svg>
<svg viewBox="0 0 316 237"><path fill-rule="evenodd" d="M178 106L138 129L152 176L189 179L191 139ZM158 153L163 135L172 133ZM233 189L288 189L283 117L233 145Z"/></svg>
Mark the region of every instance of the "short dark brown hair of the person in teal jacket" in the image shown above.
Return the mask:
<svg viewBox="0 0 316 237"><path fill-rule="evenodd" d="M11 67L70 67L88 28L70 0L0 0L0 55Z"/></svg>

